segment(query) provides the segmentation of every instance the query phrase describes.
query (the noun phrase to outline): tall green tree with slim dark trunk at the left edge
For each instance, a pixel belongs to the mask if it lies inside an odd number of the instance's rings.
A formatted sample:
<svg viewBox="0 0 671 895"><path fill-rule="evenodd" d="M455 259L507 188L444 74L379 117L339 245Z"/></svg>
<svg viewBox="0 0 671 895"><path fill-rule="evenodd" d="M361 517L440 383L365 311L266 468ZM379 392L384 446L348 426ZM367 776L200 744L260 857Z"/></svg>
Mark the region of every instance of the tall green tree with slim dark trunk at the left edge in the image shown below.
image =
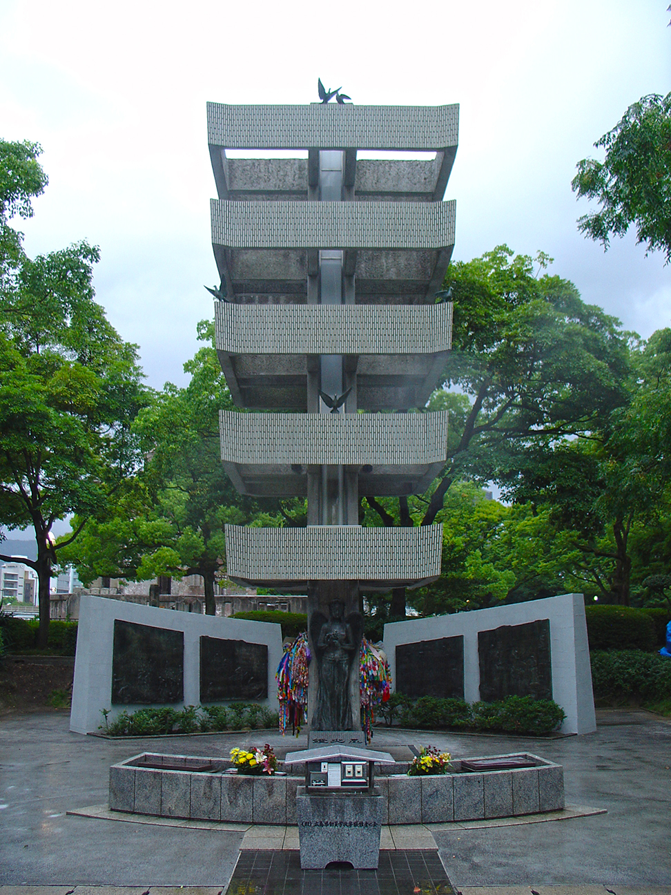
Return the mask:
<svg viewBox="0 0 671 895"><path fill-rule="evenodd" d="M47 183L38 152L0 141L0 524L34 529L37 561L21 561L38 573L46 647L51 569L64 546L51 528L71 513L96 516L132 473L142 389L135 346L94 301L98 249L82 242L30 260L10 226L30 217Z"/></svg>

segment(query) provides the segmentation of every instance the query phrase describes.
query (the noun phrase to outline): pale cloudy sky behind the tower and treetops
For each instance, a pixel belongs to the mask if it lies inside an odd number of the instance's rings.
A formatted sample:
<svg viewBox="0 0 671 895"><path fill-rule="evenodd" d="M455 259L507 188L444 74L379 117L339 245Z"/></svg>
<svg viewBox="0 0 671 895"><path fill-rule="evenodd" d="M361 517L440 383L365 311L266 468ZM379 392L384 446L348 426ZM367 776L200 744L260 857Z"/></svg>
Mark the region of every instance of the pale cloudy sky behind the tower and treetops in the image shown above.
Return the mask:
<svg viewBox="0 0 671 895"><path fill-rule="evenodd" d="M667 3L2 0L0 136L39 141L50 180L28 250L97 243L109 320L150 385L183 383L217 280L206 101L308 103L320 76L361 104L460 103L454 259L542 249L650 336L671 323L671 268L633 234L586 241L570 182L630 103L671 89Z"/></svg>

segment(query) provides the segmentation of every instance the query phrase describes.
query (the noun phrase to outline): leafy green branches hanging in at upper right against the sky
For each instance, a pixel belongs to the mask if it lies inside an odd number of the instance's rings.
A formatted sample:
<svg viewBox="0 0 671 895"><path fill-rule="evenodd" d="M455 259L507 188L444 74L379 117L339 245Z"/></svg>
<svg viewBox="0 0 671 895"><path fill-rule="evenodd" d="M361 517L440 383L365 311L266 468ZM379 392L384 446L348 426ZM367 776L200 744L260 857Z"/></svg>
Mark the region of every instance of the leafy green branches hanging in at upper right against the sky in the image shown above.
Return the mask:
<svg viewBox="0 0 671 895"><path fill-rule="evenodd" d="M608 248L611 235L636 226L639 243L671 259L671 93L652 93L633 103L612 131L594 146L606 158L583 158L572 181L578 198L599 210L578 220L580 231Z"/></svg>

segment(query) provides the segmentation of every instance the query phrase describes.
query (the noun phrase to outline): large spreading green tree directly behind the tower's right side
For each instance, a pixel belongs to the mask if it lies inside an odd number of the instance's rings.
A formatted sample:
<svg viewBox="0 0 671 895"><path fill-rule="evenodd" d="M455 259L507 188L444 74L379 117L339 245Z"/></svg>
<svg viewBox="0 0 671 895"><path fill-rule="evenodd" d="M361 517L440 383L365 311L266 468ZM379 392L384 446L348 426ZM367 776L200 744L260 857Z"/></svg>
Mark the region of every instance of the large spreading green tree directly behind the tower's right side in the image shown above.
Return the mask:
<svg viewBox="0 0 671 895"><path fill-rule="evenodd" d="M568 280L538 276L548 262L498 246L448 269L453 348L445 387L429 401L429 410L450 411L447 463L420 516L408 513L407 499L392 512L367 498L382 524L433 523L455 483L495 480L511 456L595 430L626 403L629 335ZM403 592L393 601L401 614Z"/></svg>

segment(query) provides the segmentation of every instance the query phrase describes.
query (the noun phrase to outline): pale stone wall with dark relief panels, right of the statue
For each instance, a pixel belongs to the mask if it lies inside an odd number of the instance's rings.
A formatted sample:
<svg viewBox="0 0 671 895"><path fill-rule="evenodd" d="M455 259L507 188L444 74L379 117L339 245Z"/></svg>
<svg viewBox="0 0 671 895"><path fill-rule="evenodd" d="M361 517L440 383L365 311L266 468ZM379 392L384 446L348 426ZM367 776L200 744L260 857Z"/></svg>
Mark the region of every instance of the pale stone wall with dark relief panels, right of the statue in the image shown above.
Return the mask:
<svg viewBox="0 0 671 895"><path fill-rule="evenodd" d="M506 695L551 698L563 733L596 730L581 593L385 626L394 689L469 703Z"/></svg>

